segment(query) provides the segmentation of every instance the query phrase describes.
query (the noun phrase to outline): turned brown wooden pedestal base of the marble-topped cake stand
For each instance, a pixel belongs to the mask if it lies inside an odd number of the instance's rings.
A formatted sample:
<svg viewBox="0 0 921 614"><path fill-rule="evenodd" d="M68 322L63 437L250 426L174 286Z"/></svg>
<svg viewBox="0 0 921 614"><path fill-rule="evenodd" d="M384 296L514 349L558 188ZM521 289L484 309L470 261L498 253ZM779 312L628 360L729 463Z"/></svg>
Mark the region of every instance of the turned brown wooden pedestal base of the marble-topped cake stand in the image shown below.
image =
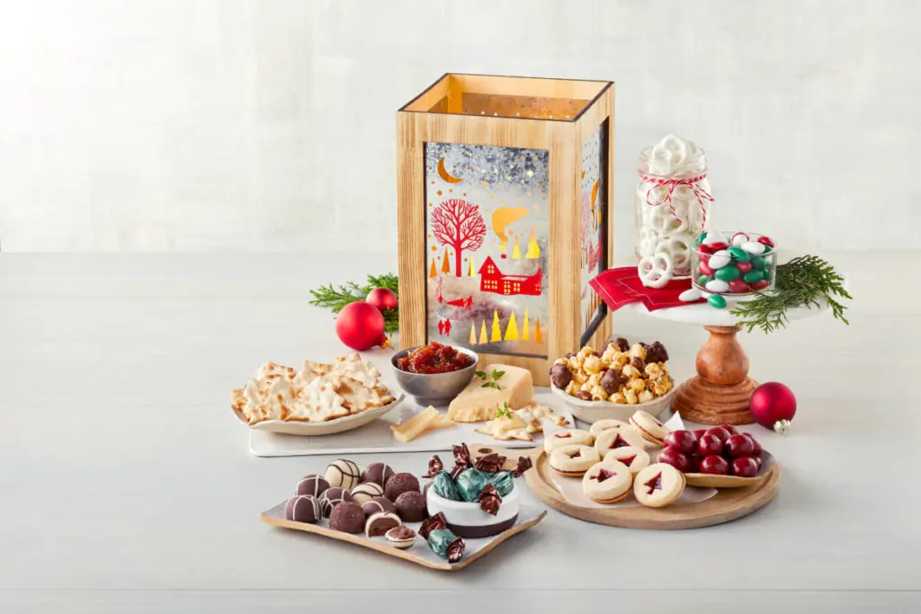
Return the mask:
<svg viewBox="0 0 921 614"><path fill-rule="evenodd" d="M675 391L671 407L682 418L701 424L750 424L749 398L758 386L748 377L748 354L737 326L705 326L710 338L697 353L697 375Z"/></svg>

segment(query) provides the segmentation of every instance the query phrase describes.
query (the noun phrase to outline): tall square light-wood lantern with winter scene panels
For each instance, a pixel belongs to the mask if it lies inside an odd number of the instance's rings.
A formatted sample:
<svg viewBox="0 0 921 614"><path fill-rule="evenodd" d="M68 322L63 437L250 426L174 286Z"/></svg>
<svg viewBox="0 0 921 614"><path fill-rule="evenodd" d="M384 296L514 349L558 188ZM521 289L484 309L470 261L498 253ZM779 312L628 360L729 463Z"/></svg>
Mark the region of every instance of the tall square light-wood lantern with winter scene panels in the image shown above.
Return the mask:
<svg viewBox="0 0 921 614"><path fill-rule="evenodd" d="M402 347L528 368L610 332L614 84L444 75L397 112Z"/></svg>

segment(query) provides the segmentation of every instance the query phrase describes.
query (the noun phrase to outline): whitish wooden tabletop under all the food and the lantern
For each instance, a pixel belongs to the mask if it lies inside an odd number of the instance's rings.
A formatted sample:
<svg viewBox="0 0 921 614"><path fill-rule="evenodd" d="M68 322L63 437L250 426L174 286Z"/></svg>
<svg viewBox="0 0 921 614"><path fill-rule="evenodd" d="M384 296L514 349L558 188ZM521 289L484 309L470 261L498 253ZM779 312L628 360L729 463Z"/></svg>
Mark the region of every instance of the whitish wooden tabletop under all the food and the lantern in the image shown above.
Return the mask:
<svg viewBox="0 0 921 614"><path fill-rule="evenodd" d="M756 431L784 468L773 503L677 532L552 511L437 573L260 523L330 458L254 458L227 410L268 358L342 353L308 289L392 254L2 255L0 612L917 611L921 293L893 280L921 252L825 256L849 277L849 328L741 337L752 376L799 398L791 434ZM704 330L614 318L692 375Z"/></svg>

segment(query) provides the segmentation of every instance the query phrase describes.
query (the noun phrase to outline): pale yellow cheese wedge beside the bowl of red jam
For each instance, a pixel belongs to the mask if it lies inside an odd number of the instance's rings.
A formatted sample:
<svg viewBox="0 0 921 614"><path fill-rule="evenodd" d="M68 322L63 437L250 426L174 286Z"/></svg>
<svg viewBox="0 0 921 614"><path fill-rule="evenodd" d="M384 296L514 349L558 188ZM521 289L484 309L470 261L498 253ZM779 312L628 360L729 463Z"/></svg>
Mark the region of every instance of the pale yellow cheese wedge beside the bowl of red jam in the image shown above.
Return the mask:
<svg viewBox="0 0 921 614"><path fill-rule="evenodd" d="M448 417L456 423L481 423L493 420L500 407L508 403L510 410L518 410L534 396L530 371L519 366L489 365L488 372L505 371L496 382L499 388L484 388L484 380L473 377L448 406Z"/></svg>

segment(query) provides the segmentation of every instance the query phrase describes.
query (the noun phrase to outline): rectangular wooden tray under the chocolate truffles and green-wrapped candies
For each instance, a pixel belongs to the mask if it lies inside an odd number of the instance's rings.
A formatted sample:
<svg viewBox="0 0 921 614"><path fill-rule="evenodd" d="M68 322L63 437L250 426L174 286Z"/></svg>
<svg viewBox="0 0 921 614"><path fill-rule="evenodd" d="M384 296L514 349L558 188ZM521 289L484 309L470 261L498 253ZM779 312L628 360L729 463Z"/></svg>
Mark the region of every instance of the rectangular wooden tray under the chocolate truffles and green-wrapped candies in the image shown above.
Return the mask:
<svg viewBox="0 0 921 614"><path fill-rule="evenodd" d="M428 567L429 569L437 569L443 572L455 572L459 569L463 569L472 562L479 560L485 554L495 550L495 547L506 539L512 538L518 535L521 531L529 529L530 527L533 527L537 523L541 522L543 520L543 516L547 516L547 510L537 508L533 505L521 505L518 521L516 521L514 527L511 527L507 531L503 531L502 533L489 538L464 539L465 548L463 558L461 561L455 563L450 563L445 559L440 558L428 547L426 540L422 539L421 536L416 537L415 543L412 547L406 550L400 550L399 548L391 546L384 538L371 539L367 538L364 533L352 535L351 533L335 531L329 527L329 520L326 518L323 518L318 524L286 520L285 503L277 504L272 509L262 512L262 515L259 516L259 519L264 523L273 525L274 527L293 528L297 531L315 533L325 538L347 541L349 543L356 544L356 546L362 546L370 550L377 550L398 559L414 562L415 564L422 565L423 567ZM418 522L409 522L406 523L406 526L413 528L415 531L418 531L421 524L422 523Z"/></svg>

